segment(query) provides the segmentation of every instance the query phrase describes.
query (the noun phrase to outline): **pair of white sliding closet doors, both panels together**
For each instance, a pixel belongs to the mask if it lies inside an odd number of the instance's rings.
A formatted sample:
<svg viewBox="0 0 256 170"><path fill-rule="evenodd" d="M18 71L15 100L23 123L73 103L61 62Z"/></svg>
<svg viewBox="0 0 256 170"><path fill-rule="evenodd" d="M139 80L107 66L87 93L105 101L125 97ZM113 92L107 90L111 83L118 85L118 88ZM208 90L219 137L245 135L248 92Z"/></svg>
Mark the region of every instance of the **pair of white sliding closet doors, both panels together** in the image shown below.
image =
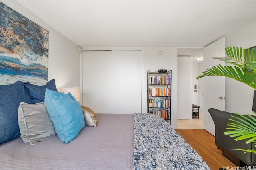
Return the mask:
<svg viewBox="0 0 256 170"><path fill-rule="evenodd" d="M83 105L95 113L141 113L142 51L83 51Z"/></svg>

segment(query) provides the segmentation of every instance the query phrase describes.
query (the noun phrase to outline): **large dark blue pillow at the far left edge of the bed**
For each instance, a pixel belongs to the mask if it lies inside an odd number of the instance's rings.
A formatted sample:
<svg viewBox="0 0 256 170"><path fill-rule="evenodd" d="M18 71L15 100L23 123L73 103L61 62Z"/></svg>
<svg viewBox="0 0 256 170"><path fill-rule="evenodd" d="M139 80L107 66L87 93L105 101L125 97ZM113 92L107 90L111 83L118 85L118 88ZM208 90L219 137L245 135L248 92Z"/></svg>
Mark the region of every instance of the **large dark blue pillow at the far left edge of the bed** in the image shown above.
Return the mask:
<svg viewBox="0 0 256 170"><path fill-rule="evenodd" d="M31 103L22 81L0 86L0 141L1 144L20 137L18 108L20 102Z"/></svg>

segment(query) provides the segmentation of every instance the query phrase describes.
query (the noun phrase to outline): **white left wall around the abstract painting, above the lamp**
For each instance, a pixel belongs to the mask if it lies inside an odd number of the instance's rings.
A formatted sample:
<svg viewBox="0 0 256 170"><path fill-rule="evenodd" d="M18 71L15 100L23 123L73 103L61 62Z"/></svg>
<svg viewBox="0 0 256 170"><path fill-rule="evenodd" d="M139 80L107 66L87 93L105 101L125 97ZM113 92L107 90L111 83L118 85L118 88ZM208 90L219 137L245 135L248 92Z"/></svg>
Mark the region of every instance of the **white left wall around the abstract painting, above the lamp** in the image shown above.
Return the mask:
<svg viewBox="0 0 256 170"><path fill-rule="evenodd" d="M80 54L77 45L46 24L16 1L2 0L4 4L49 31L49 76L57 87L79 87Z"/></svg>

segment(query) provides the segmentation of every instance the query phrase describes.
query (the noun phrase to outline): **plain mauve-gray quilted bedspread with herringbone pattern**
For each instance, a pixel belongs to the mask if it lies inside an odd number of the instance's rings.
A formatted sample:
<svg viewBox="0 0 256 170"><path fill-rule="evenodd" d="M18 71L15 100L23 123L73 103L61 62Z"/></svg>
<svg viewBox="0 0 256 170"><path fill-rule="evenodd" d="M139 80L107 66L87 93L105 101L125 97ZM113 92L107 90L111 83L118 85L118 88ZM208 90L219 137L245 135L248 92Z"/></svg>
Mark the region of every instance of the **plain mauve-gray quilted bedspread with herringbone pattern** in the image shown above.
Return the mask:
<svg viewBox="0 0 256 170"><path fill-rule="evenodd" d="M57 135L34 146L21 138L0 147L1 170L131 170L133 115L96 114L97 127L86 126L68 144Z"/></svg>

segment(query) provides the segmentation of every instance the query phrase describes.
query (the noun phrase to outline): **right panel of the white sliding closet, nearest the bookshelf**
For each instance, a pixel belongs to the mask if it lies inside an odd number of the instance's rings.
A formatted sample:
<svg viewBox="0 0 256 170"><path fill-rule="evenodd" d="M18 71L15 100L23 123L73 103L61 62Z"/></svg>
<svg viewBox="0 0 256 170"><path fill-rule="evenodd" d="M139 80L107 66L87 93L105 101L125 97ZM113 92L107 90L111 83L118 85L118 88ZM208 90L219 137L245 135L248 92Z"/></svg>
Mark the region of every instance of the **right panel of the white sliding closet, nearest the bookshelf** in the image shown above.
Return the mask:
<svg viewBox="0 0 256 170"><path fill-rule="evenodd" d="M112 51L112 113L141 113L142 51Z"/></svg>

